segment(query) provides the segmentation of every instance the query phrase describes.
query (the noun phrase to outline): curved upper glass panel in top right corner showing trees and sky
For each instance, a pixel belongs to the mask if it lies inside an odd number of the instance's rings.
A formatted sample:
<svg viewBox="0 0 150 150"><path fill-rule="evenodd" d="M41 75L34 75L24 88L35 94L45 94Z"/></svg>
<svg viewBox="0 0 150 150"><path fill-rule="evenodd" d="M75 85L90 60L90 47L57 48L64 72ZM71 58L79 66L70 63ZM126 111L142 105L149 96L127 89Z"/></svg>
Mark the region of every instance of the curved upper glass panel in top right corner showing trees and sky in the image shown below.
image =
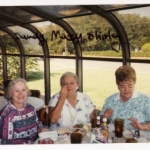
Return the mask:
<svg viewBox="0 0 150 150"><path fill-rule="evenodd" d="M150 7L122 10L114 14L127 33L131 59L150 58Z"/></svg>

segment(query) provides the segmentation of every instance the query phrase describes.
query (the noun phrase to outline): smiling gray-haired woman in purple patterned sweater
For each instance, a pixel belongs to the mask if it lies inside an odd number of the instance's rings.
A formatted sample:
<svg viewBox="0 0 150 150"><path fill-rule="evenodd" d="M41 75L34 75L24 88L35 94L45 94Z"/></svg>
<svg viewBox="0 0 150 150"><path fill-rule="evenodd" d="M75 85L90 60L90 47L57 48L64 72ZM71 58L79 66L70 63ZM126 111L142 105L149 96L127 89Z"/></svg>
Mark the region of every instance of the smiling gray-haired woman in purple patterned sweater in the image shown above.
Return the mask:
<svg viewBox="0 0 150 150"><path fill-rule="evenodd" d="M38 133L46 131L38 120L33 106L25 103L30 94L24 79L12 80L6 91L7 105L0 111L2 144L32 144Z"/></svg>

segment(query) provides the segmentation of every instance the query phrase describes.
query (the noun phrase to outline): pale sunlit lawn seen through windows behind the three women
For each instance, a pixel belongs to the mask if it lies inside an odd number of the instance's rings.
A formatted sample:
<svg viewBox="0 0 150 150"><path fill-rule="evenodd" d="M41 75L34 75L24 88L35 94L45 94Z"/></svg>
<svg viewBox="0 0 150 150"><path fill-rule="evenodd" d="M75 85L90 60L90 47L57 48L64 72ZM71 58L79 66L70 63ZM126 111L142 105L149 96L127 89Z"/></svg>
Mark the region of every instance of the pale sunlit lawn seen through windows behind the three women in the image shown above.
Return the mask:
<svg viewBox="0 0 150 150"><path fill-rule="evenodd" d="M60 90L59 78L66 69L55 70L51 74L51 95ZM69 70L75 72L74 70ZM88 94L98 108L102 108L106 97L118 92L114 71L84 69L84 93ZM150 74L137 73L136 89L150 96ZM44 94L43 80L28 82L30 88L39 89Z"/></svg>

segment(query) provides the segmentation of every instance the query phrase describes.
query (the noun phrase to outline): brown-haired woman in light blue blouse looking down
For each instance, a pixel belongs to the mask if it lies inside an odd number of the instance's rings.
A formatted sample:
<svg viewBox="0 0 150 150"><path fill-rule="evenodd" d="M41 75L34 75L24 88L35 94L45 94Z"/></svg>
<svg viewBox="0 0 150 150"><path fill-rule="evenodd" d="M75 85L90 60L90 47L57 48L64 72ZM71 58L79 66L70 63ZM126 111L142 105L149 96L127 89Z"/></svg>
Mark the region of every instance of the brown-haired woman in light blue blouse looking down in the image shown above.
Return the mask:
<svg viewBox="0 0 150 150"><path fill-rule="evenodd" d="M150 98L135 90L135 70L121 66L115 76L119 92L106 98L100 115L109 118L111 123L115 118L123 118L125 128L150 130Z"/></svg>

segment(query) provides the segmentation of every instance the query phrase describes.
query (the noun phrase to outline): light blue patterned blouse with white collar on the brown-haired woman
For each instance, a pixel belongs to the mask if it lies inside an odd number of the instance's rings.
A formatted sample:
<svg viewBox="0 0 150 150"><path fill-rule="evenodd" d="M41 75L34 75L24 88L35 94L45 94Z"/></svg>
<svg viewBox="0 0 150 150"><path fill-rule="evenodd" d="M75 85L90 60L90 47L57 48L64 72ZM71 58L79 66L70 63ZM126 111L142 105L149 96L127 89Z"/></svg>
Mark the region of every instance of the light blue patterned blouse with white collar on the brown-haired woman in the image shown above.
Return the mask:
<svg viewBox="0 0 150 150"><path fill-rule="evenodd" d="M134 91L132 97L123 102L120 100L120 93L113 94L105 100L100 115L107 108L113 110L113 115L110 118L111 123L115 118L123 118L125 120L125 128L132 129L129 118L136 118L140 123L150 121L150 98L140 92Z"/></svg>

